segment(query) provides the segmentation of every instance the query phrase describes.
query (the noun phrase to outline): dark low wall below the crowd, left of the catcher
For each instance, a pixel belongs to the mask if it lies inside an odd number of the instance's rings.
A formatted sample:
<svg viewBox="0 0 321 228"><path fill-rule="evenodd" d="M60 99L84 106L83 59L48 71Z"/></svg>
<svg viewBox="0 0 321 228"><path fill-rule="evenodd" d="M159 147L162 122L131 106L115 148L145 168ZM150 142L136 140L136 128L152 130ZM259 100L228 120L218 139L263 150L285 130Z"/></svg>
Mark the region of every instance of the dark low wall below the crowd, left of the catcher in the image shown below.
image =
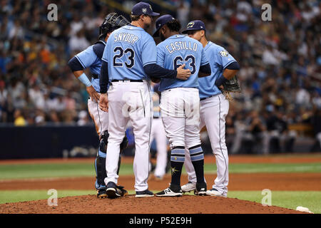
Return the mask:
<svg viewBox="0 0 321 228"><path fill-rule="evenodd" d="M63 157L73 147L97 147L92 126L0 128L0 159Z"/></svg>

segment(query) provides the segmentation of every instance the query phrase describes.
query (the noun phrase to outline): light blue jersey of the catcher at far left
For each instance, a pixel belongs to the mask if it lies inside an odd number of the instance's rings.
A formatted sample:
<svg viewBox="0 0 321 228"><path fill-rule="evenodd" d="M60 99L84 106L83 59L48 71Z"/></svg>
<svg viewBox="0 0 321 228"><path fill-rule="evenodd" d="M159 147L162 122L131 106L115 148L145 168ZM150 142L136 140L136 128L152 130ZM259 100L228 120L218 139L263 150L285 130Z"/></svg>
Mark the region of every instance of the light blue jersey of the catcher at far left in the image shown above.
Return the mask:
<svg viewBox="0 0 321 228"><path fill-rule="evenodd" d="M104 41L100 42L105 43ZM98 76L97 79L91 78L91 84L93 88L100 93L101 87L99 86L99 75L101 74L101 59L98 58L96 53L93 51L93 45L88 46L88 48L81 51L81 53L76 54L75 57L84 69L89 68L92 74L96 74Z"/></svg>

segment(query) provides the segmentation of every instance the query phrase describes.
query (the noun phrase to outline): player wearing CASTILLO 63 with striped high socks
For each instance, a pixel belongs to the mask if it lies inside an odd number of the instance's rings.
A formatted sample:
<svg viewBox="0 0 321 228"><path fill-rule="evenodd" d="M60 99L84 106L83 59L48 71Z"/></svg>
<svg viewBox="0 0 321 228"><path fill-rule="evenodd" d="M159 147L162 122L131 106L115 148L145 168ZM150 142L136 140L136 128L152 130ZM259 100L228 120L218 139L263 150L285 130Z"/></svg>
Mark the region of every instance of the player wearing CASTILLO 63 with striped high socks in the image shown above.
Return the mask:
<svg viewBox="0 0 321 228"><path fill-rule="evenodd" d="M156 194L158 197L183 195L180 189L180 175L185 160L185 148L190 152L196 171L196 188L199 195L206 195L204 181L204 155L200 145L200 99L198 95L198 73L210 75L210 64L200 42L180 35L180 22L163 15L156 20L154 37L163 42L157 46L157 63L165 68L175 69L185 63L191 76L187 81L161 78L161 115L166 135L170 142L170 186Z"/></svg>

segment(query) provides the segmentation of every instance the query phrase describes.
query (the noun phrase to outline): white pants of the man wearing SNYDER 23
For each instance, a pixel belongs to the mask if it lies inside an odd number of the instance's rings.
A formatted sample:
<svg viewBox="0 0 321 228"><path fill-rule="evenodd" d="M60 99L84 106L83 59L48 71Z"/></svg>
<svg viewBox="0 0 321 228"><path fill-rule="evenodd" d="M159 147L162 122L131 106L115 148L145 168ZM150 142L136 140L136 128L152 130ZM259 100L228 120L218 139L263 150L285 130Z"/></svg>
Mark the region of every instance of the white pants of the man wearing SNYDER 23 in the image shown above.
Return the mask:
<svg viewBox="0 0 321 228"><path fill-rule="evenodd" d="M120 144L123 141L126 125L131 120L135 136L135 157L133 171L135 174L135 190L148 189L148 166L149 166L149 141L151 137L151 94L147 81L113 82L108 90L108 145L106 157L106 171L108 182L117 185L118 158Z"/></svg>

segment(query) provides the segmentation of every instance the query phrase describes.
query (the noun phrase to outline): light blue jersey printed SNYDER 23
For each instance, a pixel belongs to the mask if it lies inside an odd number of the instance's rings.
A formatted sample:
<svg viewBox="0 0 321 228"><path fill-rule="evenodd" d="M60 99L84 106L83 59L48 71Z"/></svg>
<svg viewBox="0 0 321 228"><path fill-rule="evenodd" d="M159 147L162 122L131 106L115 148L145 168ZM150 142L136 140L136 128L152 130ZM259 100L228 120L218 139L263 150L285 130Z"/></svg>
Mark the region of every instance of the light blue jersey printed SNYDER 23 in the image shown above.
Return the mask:
<svg viewBox="0 0 321 228"><path fill-rule="evenodd" d="M123 26L111 33L103 51L112 80L148 80L144 66L156 63L156 43L143 28Z"/></svg>

